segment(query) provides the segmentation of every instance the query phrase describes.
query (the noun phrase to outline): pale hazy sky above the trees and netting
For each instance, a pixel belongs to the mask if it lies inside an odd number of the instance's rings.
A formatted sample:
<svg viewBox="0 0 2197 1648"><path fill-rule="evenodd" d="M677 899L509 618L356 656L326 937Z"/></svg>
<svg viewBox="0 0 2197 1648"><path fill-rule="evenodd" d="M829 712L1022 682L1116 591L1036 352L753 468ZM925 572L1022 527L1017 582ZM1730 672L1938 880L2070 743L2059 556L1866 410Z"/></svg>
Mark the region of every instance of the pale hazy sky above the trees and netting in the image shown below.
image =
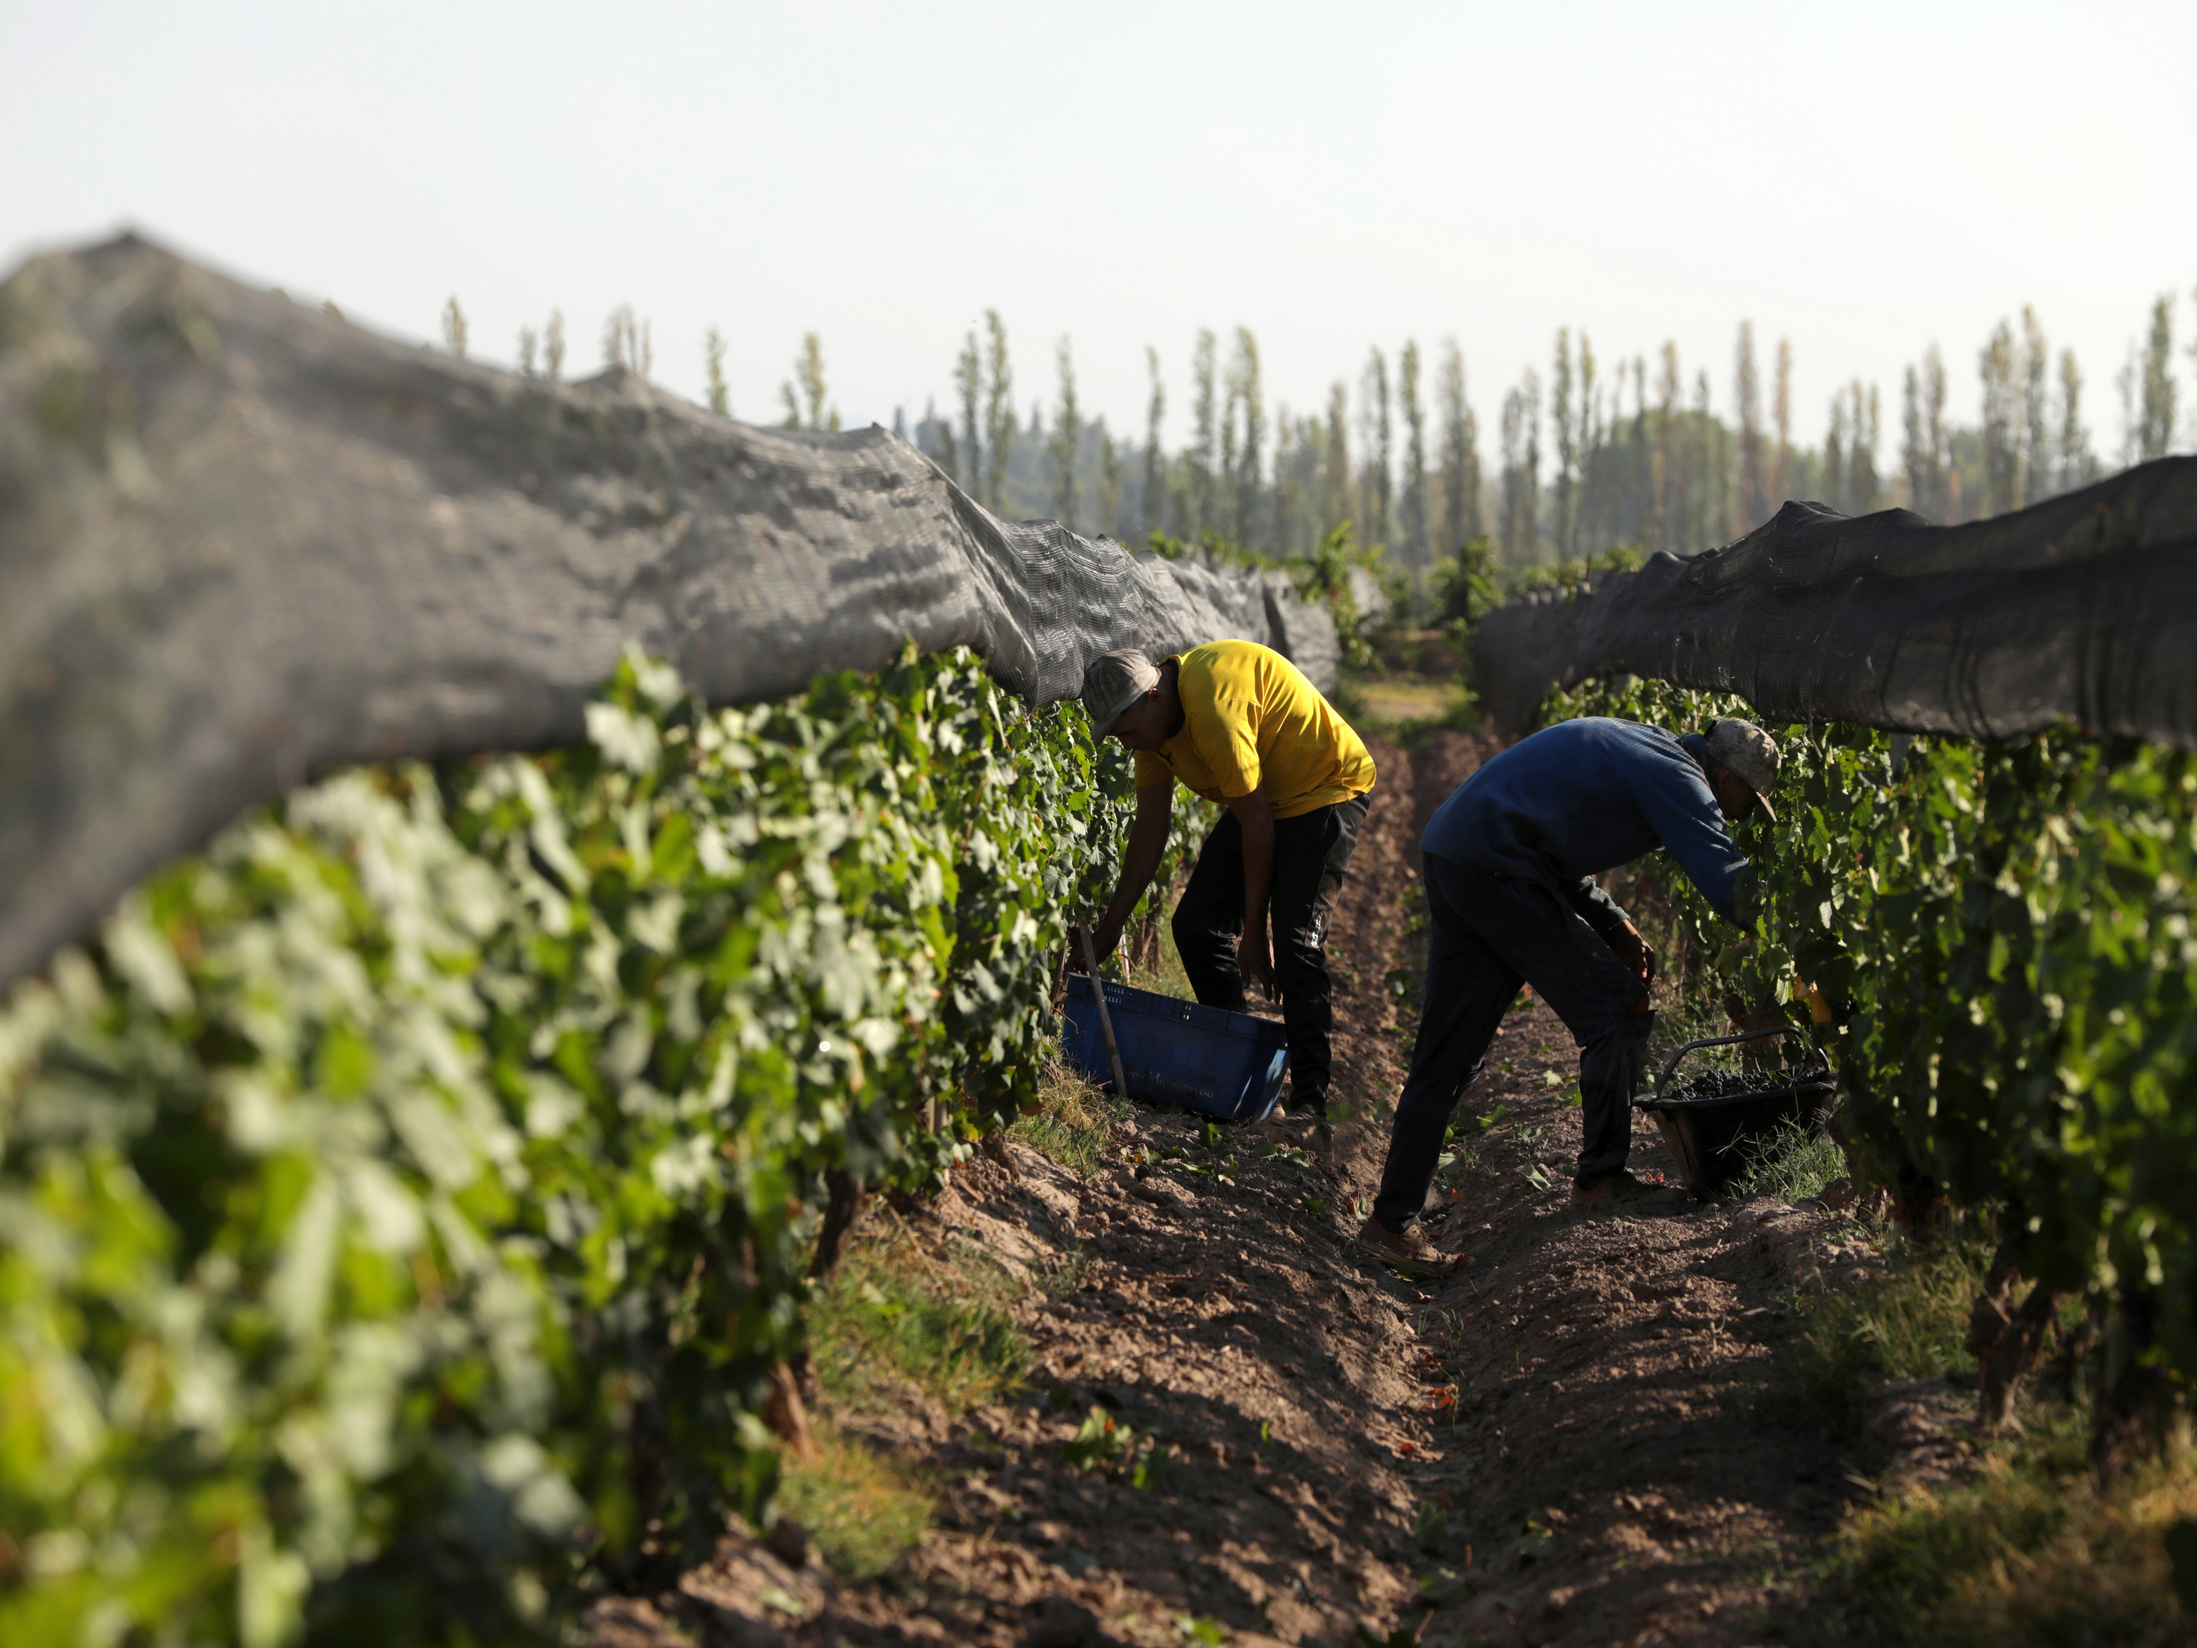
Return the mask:
<svg viewBox="0 0 2197 1648"><path fill-rule="evenodd" d="M1731 400L1791 336L1797 435L1931 341L1973 415L1990 325L2114 374L2175 292L2197 407L2197 4L127 4L0 0L0 257L134 224L475 354L562 308L573 365L650 316L657 378L778 417L800 334L850 424L945 407L1006 319L1017 400L1189 428L1200 325L1270 398L1454 334L1487 444L1558 325L1676 338ZM1764 367L1766 376L1766 367Z"/></svg>

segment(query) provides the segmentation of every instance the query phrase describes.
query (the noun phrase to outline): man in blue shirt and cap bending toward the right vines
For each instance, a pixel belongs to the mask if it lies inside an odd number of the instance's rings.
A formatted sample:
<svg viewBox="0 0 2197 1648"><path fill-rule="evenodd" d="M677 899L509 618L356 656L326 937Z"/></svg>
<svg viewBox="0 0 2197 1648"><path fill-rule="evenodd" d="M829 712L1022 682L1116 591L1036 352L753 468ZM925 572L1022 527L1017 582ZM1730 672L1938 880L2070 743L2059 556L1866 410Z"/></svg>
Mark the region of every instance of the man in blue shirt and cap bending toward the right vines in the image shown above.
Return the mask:
<svg viewBox="0 0 2197 1648"><path fill-rule="evenodd" d="M1573 1206L1674 1193L1626 1171L1632 1092L1648 1059L1654 951L1593 877L1665 848L1720 916L1736 921L1747 859L1727 822L1755 806L1777 817L1777 745L1751 721L1722 719L1676 738L1591 716L1505 749L1441 804L1426 835L1426 1006L1395 1107L1389 1165L1360 1241L1413 1274L1446 1274L1417 1217L1435 1180L1450 1112L1481 1072L1520 984L1580 1044L1586 1138Z"/></svg>

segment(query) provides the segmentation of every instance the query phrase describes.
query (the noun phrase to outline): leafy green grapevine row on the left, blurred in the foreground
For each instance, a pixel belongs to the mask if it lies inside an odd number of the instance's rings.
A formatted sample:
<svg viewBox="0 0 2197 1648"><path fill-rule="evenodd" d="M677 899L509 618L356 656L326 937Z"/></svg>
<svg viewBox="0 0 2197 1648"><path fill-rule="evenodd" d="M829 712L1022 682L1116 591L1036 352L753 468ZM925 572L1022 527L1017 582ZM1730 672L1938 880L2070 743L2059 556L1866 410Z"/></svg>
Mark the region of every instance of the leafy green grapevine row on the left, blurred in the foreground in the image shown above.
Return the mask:
<svg viewBox="0 0 2197 1648"><path fill-rule="evenodd" d="M1033 1096L1127 769L967 653L349 771L0 1013L0 1639L523 1641L765 1503L817 1187Z"/></svg>

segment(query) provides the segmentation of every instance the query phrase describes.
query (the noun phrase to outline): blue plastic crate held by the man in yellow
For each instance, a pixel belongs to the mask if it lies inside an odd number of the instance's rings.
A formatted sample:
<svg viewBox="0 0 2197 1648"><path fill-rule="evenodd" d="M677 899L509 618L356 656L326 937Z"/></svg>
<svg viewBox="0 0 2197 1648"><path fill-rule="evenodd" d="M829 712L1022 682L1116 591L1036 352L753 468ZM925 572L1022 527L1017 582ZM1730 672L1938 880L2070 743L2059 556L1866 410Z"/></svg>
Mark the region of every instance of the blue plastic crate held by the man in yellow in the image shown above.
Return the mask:
<svg viewBox="0 0 2197 1648"><path fill-rule="evenodd" d="M1290 1046L1274 1020L1180 1002L1114 980L1107 980L1105 1004L1131 1099L1224 1121L1259 1121L1281 1096ZM1114 1085L1098 1002L1085 973L1068 976L1061 1055L1092 1081Z"/></svg>

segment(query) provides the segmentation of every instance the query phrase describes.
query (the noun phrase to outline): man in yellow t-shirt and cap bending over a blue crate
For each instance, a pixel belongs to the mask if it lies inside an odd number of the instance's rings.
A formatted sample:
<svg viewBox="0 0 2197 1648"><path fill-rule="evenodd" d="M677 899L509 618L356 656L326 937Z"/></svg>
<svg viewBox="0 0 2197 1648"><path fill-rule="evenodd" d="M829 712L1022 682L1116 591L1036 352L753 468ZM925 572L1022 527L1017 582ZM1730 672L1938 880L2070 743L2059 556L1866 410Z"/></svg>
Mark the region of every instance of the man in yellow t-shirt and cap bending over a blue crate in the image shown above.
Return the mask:
<svg viewBox="0 0 2197 1648"><path fill-rule="evenodd" d="M1246 980L1281 993L1290 1112L1327 1121L1334 987L1327 914L1358 846L1373 756L1320 690L1257 642L1208 642L1153 664L1105 653L1083 672L1092 730L1136 751L1136 824L1092 938L1112 954L1160 855L1175 780L1228 809L1175 905L1182 971L1206 1006L1244 1011Z"/></svg>

